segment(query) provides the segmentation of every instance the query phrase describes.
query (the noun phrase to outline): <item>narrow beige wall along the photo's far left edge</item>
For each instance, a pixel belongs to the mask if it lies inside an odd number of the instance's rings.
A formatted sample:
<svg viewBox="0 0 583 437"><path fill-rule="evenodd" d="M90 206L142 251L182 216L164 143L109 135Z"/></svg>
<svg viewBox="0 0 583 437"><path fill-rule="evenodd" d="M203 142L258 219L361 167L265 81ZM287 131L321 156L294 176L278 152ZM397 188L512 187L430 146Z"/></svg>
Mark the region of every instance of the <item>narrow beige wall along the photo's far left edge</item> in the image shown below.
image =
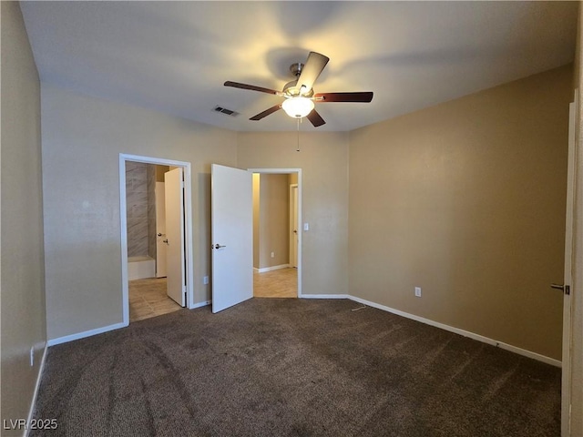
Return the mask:
<svg viewBox="0 0 583 437"><path fill-rule="evenodd" d="M28 416L46 344L46 318L40 84L20 6L0 2L0 8L2 420L8 421ZM2 435L22 431L3 430Z"/></svg>

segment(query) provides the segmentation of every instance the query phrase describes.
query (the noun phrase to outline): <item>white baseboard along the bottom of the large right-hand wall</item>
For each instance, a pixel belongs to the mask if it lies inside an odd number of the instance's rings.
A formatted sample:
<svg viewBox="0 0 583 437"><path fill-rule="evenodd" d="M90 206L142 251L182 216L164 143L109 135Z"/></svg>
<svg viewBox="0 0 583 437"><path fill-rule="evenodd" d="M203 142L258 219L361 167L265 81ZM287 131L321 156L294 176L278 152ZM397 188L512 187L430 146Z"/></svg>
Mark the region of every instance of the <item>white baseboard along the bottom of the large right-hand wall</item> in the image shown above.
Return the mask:
<svg viewBox="0 0 583 437"><path fill-rule="evenodd" d="M401 310L395 310L394 308L386 307L384 305L371 302L370 300L364 300L361 298L356 298L354 296L348 296L348 299L354 300L359 303L363 303L364 305L368 305L369 307L376 308L378 310L384 310L387 312L392 312L397 316L402 316L406 319L411 319L415 321L420 321L426 325L435 326L435 328L439 328L441 330L448 330L450 332L454 332L455 334L463 335L464 337L468 337L473 340L482 341L483 343L490 344L492 346L496 346L497 348L504 349L506 351L511 351L517 353L518 355L522 355L528 358L532 358L533 360L546 362L555 367L561 367L561 361L555 360L553 358L549 358L545 355L541 355L537 352L527 351L526 349L518 348L517 346L512 346L511 344L507 344L503 341L492 340L488 337L484 337L483 335L475 334L474 332L470 332L469 330L460 330L459 328L454 328L453 326L445 325L444 323L439 323L438 321L425 319L424 317L415 316L414 314L410 314L408 312L404 312Z"/></svg>

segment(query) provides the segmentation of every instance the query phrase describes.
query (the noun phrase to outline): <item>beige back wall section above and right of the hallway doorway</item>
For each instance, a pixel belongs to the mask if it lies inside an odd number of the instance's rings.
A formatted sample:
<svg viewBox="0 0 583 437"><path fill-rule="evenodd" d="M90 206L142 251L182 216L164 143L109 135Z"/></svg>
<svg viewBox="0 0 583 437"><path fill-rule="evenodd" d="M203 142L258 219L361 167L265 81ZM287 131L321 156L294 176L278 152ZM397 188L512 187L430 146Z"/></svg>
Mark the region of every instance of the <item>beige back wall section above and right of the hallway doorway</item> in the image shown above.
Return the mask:
<svg viewBox="0 0 583 437"><path fill-rule="evenodd" d="M348 134L239 133L239 168L302 168L302 294L348 291Z"/></svg>

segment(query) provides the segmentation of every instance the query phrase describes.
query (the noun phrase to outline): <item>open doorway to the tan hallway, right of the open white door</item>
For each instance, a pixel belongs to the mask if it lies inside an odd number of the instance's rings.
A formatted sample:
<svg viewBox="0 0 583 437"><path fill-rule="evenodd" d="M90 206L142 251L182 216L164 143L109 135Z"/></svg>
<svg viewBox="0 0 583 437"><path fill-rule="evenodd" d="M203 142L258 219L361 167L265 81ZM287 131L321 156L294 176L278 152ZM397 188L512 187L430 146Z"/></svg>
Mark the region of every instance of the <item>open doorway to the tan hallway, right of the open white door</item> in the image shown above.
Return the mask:
<svg viewBox="0 0 583 437"><path fill-rule="evenodd" d="M253 169L253 297L297 298L299 170Z"/></svg>

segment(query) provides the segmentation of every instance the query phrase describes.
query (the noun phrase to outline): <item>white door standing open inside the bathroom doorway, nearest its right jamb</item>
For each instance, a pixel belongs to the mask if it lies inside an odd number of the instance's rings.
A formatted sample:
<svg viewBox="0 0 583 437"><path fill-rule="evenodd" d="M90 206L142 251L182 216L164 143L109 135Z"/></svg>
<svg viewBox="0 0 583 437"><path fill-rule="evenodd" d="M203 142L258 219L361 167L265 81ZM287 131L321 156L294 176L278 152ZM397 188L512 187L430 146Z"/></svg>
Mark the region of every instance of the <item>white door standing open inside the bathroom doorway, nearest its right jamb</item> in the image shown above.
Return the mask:
<svg viewBox="0 0 583 437"><path fill-rule="evenodd" d="M181 307L186 304L184 256L184 182L182 168L164 173L166 206L167 293Z"/></svg>

